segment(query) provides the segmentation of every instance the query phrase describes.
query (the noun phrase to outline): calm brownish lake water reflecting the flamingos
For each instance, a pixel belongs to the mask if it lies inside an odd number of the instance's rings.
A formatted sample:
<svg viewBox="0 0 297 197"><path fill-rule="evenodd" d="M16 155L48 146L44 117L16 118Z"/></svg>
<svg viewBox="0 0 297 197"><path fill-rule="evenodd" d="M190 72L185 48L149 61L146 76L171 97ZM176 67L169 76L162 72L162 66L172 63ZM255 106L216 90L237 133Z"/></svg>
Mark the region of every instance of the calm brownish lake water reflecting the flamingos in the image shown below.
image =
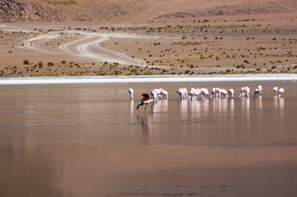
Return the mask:
<svg viewBox="0 0 297 197"><path fill-rule="evenodd" d="M261 82L254 99L257 85L0 86L0 197L295 197L297 82ZM136 110L161 87L169 100ZM179 101L179 87L235 99Z"/></svg>

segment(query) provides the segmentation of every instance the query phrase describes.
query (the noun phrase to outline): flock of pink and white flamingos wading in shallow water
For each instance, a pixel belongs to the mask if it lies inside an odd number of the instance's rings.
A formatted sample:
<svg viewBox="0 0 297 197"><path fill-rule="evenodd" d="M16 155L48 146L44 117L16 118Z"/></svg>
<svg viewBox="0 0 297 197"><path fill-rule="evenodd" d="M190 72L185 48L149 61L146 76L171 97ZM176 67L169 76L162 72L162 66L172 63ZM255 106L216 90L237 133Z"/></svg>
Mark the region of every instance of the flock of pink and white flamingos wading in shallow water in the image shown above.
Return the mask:
<svg viewBox="0 0 297 197"><path fill-rule="evenodd" d="M282 98L282 95L284 94L285 90L283 88L278 89L277 87L274 87L272 89L274 91L274 94L276 92L279 93L279 98ZM262 91L262 86L259 85L255 90L254 90L254 98L258 98L261 96L261 91ZM128 90L130 94L130 99L133 100L133 89L129 88ZM250 89L249 87L242 87L240 90L240 95L239 98L247 98L249 99L249 92ZM206 99L207 96L209 95L209 90L206 88L191 88L189 91L189 96L188 96L188 90L186 88L179 88L175 93L178 94L178 99L183 100L183 99L190 99L190 100L198 100L198 99ZM230 96L228 96L228 93ZM145 111L147 109L147 105L151 106L151 113L152 113L152 105L150 103L157 103L158 99L169 99L168 98L168 92L165 91L163 88L159 89L153 89L150 92L150 96L148 94L142 94L143 98L141 99L141 103L137 105L137 110L140 106L146 105ZM162 97L163 96L163 97ZM234 99L234 90L229 89L228 92L225 89L220 89L220 88L213 88L211 90L211 96L210 99L214 97L215 99ZM144 113L145 113L144 111Z"/></svg>

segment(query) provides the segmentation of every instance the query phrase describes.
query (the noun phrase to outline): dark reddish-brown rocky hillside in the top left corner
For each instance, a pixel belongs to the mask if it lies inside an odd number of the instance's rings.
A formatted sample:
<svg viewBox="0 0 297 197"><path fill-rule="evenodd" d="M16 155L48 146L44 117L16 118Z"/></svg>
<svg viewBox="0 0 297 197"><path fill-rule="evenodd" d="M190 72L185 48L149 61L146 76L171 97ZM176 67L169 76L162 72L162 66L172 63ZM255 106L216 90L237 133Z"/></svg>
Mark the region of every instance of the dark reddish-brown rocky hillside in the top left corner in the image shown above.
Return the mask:
<svg viewBox="0 0 297 197"><path fill-rule="evenodd" d="M25 0L0 0L0 22L65 21L63 12L49 3Z"/></svg>

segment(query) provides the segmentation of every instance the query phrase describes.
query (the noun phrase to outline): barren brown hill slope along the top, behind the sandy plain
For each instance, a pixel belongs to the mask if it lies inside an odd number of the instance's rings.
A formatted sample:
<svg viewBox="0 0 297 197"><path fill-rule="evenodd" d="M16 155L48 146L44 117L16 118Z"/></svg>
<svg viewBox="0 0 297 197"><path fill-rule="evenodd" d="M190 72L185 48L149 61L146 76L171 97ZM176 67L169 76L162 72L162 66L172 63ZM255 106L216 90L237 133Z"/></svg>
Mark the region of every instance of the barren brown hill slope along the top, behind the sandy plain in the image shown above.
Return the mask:
<svg viewBox="0 0 297 197"><path fill-rule="evenodd" d="M0 21L138 20L296 12L296 0L1 0Z"/></svg>

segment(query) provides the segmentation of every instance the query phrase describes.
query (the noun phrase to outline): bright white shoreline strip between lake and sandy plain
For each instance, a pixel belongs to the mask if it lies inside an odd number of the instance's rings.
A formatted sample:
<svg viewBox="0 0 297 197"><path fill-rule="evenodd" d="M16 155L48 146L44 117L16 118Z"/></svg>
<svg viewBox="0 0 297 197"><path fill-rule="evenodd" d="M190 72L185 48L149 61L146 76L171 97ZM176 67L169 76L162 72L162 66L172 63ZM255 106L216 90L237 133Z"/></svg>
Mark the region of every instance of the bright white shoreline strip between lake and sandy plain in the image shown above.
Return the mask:
<svg viewBox="0 0 297 197"><path fill-rule="evenodd" d="M289 81L297 80L294 74L259 75L146 75L146 76L73 76L73 77L7 77L0 78L0 85L42 84L102 84L102 83L166 83L166 82L236 82L236 81Z"/></svg>

